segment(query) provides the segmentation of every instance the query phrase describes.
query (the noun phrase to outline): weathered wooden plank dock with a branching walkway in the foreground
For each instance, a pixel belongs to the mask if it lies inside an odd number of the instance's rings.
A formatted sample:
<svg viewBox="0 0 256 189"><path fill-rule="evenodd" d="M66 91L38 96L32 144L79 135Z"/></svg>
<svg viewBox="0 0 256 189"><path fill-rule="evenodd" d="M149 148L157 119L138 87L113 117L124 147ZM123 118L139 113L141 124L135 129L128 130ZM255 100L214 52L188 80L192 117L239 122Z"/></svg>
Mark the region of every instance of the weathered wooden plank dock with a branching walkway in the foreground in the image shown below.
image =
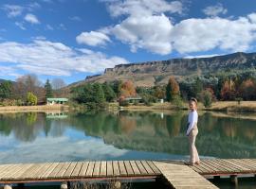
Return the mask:
<svg viewBox="0 0 256 189"><path fill-rule="evenodd" d="M101 161L72 163L17 163L0 165L0 183L69 182L86 180L164 179L173 188L217 188L205 177L256 174L256 159L202 160L184 162Z"/></svg>

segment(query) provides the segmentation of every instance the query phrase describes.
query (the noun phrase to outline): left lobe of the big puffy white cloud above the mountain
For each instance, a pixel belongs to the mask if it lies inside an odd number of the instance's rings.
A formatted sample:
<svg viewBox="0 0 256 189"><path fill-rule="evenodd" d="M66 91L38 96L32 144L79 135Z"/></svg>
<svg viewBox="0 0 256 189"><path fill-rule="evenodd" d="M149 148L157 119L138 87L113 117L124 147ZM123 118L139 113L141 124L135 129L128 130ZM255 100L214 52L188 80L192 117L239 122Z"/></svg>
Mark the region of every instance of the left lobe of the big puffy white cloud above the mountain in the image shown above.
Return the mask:
<svg viewBox="0 0 256 189"><path fill-rule="evenodd" d="M164 15L130 16L112 29L113 34L123 43L131 44L131 50L147 49L165 55L172 51L170 43L173 26Z"/></svg>

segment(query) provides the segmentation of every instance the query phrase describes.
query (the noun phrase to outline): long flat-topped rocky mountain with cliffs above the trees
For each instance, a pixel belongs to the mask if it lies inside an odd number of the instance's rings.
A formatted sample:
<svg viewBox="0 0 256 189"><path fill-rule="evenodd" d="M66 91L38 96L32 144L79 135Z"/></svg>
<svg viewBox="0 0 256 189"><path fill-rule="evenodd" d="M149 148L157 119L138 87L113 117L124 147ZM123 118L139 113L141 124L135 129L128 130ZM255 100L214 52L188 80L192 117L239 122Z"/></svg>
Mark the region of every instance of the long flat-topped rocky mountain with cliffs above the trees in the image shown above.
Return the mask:
<svg viewBox="0 0 256 189"><path fill-rule="evenodd" d="M71 86L88 82L133 80L136 86L151 87L166 84L170 76L183 79L192 76L217 74L225 70L244 70L256 67L256 53L234 53L211 58L155 60L140 63L119 64L105 69L102 75L86 77Z"/></svg>

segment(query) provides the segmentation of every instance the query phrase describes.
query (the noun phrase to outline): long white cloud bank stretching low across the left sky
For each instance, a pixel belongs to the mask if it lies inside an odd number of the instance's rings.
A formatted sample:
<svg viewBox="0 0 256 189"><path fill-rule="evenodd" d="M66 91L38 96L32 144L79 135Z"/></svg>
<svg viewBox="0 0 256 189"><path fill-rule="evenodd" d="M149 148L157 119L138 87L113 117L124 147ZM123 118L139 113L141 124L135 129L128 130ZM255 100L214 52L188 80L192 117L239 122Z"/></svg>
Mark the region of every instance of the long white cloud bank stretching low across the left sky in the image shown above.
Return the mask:
<svg viewBox="0 0 256 189"><path fill-rule="evenodd" d="M73 72L99 73L105 68L128 63L101 52L70 48L63 43L35 40L33 43L0 43L0 62L13 63L13 69L48 76L70 76Z"/></svg>

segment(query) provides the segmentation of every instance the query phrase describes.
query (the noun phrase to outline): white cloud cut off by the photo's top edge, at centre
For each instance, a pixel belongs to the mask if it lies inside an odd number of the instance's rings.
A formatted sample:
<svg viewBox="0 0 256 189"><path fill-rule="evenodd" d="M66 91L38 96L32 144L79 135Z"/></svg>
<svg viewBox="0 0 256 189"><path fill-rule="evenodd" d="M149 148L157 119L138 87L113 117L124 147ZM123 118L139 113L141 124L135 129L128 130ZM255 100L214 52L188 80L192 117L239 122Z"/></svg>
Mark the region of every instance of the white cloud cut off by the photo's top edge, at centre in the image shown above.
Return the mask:
<svg viewBox="0 0 256 189"><path fill-rule="evenodd" d="M108 4L110 14L114 17L120 15L152 15L163 12L182 13L182 3L179 1L167 2L165 0L117 0L104 1Z"/></svg>

